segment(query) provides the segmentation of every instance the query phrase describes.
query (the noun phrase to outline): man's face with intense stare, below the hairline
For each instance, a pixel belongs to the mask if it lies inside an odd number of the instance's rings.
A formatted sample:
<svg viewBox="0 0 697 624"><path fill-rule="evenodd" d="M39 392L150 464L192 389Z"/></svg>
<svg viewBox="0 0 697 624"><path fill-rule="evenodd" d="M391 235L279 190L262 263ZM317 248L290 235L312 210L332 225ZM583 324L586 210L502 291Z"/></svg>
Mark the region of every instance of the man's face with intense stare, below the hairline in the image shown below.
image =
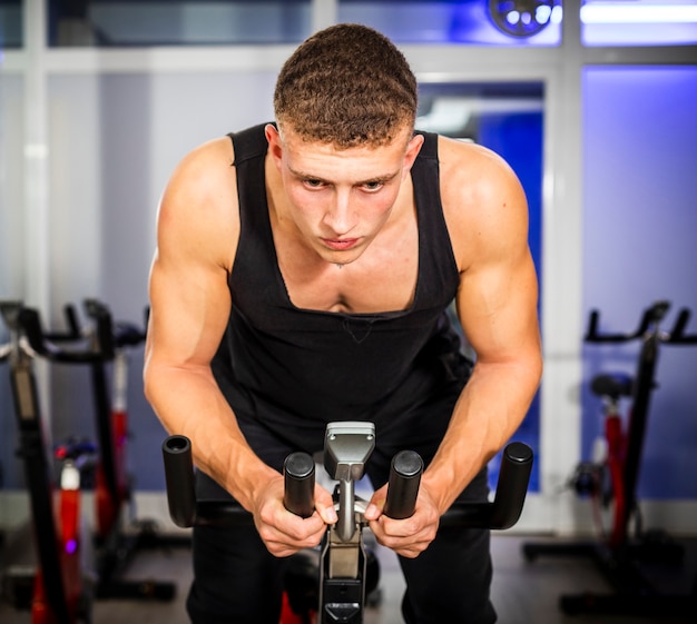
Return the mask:
<svg viewBox="0 0 697 624"><path fill-rule="evenodd" d="M287 199L281 217L323 259L341 265L357 259L387 222L423 142L408 128L379 148L340 150L271 125L266 138Z"/></svg>

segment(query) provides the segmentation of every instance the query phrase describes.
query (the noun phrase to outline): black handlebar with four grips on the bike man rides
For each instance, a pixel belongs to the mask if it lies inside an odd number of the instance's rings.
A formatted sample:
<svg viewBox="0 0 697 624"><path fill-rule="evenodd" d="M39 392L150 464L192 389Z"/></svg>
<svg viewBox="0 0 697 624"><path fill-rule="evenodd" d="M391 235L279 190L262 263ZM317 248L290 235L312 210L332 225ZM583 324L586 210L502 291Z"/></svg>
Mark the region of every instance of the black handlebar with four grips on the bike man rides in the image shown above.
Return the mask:
<svg viewBox="0 0 697 624"><path fill-rule="evenodd" d="M163 443L163 458L169 515L177 526L187 528L194 525L249 525L252 514L236 501L196 499L192 443L186 436L173 435L166 438ZM513 526L522 513L532 459L529 446L519 442L510 443L503 450L493 502L455 503L441 517L441 526L493 529ZM413 513L422 471L423 462L413 452L402 452L394 457L385 515L401 519ZM298 515L306 514L304 517L312 515L314 460L307 454L292 454L286 459L284 473L286 508L292 512L301 511ZM291 487L288 479L292 483ZM289 492L292 494L288 494Z"/></svg>

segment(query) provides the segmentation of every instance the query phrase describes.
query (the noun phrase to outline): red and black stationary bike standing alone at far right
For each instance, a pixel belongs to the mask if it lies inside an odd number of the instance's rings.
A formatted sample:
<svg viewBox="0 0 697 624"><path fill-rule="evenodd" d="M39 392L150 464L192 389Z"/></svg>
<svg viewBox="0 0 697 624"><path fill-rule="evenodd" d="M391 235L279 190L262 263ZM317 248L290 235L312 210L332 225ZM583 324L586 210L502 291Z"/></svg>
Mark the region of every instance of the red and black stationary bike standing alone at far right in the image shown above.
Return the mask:
<svg viewBox="0 0 697 624"><path fill-rule="evenodd" d="M570 615L606 613L627 615L673 616L697 615L697 578L687 594L659 591L641 569L642 564L679 566L683 548L660 531L644 531L641 509L637 499L644 439L651 394L658 387L656 366L661 344L697 345L697 334L685 329L690 310L683 308L670 333L660 329L670 304L656 301L644 311L639 326L628 334L599 330L599 313L590 315L587 343L610 344L640 341L634 377L624 373L603 373L591 379L591 392L603 402L603 452L577 467L570 485L582 496L590 497L599 527L598 542L572 544L523 544L528 561L539 556L582 556L590 558L612 585L613 594L582 593L562 595L560 607ZM619 410L622 399L629 399L626 418ZM610 516L605 528L603 515Z"/></svg>

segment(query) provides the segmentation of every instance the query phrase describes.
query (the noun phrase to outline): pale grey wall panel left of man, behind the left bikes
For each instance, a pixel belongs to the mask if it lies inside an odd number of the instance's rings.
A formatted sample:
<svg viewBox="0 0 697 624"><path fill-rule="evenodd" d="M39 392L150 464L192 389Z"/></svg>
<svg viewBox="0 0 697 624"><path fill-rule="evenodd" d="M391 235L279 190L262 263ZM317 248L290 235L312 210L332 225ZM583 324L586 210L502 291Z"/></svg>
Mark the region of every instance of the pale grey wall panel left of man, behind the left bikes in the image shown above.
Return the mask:
<svg viewBox="0 0 697 624"><path fill-rule="evenodd" d="M51 78L53 310L97 297L115 320L143 324L157 202L169 175L195 146L271 119L273 81L271 73L216 72ZM136 348L130 468L136 487L160 489L164 432L143 396L141 373L143 348ZM94 435L89 370L59 365L52 382L57 435Z"/></svg>

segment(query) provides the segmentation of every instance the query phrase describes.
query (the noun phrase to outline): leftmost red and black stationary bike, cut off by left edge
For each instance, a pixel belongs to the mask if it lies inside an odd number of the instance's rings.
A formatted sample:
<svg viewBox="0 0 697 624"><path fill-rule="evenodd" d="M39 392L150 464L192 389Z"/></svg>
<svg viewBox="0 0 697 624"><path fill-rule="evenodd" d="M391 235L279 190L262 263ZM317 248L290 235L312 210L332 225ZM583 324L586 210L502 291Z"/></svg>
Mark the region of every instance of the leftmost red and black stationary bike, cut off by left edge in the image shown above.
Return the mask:
<svg viewBox="0 0 697 624"><path fill-rule="evenodd" d="M19 301L0 301L0 315L10 333L10 343L0 348L0 359L8 359L10 365L18 456L24 466L37 566L31 577L6 571L3 585L9 587L17 608L31 611L31 624L89 623L94 571L85 557L90 537L82 531L80 509L82 476L90 469L96 447L89 440L57 445L53 456L58 469L52 469L50 437L39 409L33 353L23 339L26 314L27 308ZM72 357L82 355L76 353Z"/></svg>

